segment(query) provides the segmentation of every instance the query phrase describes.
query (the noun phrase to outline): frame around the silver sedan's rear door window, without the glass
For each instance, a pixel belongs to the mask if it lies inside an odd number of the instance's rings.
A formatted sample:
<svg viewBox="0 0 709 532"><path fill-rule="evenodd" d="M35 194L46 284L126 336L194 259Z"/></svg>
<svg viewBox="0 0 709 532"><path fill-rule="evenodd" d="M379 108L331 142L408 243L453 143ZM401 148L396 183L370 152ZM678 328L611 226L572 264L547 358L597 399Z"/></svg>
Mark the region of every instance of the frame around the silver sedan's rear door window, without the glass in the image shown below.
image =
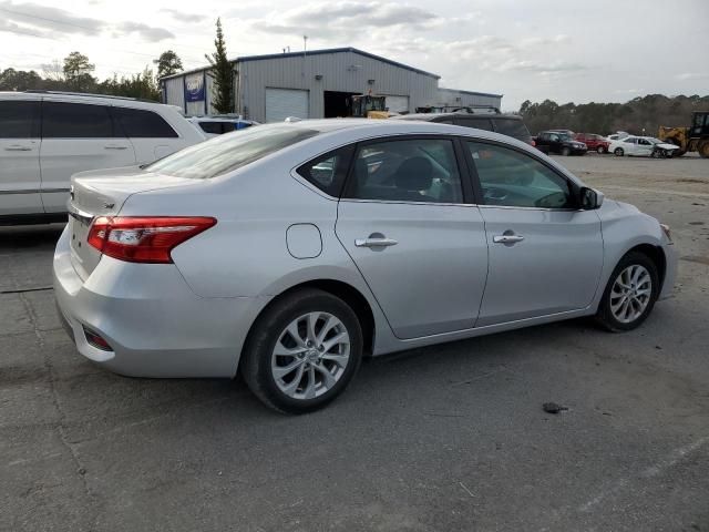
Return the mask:
<svg viewBox="0 0 709 532"><path fill-rule="evenodd" d="M459 144L459 136L458 135L450 135L450 134L415 134L415 135L409 135L409 134L394 134L394 135L383 135L383 136L377 136L377 137L370 137L363 141L359 141L356 143L352 143L351 145L354 147L352 150L351 156L350 156L350 165L347 172L347 177L345 180L345 186L342 186L342 190L340 191L340 196L339 196L339 201L346 201L346 202L357 202L357 203L384 203L384 204L408 204L408 205L432 205L432 206L440 206L440 205L474 205L474 195L473 195L473 191L472 187L470 186L470 180L469 180L469 174L467 174L467 167L464 164L464 154L461 153L461 146ZM359 154L360 150L364 146L368 146L370 144L381 144L382 142L397 142L397 141L417 141L417 140L436 140L436 141L449 141L452 143L453 145L453 154L455 157L455 164L458 165L458 173L460 175L460 180L461 180L461 190L463 193L463 202L462 203L439 203L439 202L410 202L410 201L405 201L405 200L371 200L371 198L359 198L359 197L348 197L349 195L352 195L352 188L353 188L353 184L354 184L354 180L352 177L352 174L354 173L354 162L357 160L357 155Z"/></svg>

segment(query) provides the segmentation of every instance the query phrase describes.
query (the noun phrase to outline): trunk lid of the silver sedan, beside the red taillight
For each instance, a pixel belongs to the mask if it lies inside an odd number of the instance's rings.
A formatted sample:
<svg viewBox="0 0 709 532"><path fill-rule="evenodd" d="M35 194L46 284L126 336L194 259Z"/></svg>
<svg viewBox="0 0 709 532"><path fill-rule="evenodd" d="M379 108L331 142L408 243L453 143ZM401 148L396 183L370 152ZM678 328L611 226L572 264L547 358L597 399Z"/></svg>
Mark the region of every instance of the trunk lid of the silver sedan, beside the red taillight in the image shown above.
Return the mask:
<svg viewBox="0 0 709 532"><path fill-rule="evenodd" d="M71 262L79 276L85 280L101 260L101 253L88 242L94 218L119 214L133 194L196 183L198 180L153 174L137 166L74 174L68 209Z"/></svg>

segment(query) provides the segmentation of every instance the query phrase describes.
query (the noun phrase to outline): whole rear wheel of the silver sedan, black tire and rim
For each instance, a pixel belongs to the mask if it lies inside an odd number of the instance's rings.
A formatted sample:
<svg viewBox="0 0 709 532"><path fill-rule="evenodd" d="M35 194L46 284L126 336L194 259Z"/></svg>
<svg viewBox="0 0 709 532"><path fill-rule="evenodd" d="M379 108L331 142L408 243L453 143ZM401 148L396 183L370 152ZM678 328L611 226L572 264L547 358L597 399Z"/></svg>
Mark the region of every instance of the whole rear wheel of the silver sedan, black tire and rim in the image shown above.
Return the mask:
<svg viewBox="0 0 709 532"><path fill-rule="evenodd" d="M266 406L307 413L347 388L361 362L362 345L359 319L345 301L323 290L299 289L259 316L240 370Z"/></svg>

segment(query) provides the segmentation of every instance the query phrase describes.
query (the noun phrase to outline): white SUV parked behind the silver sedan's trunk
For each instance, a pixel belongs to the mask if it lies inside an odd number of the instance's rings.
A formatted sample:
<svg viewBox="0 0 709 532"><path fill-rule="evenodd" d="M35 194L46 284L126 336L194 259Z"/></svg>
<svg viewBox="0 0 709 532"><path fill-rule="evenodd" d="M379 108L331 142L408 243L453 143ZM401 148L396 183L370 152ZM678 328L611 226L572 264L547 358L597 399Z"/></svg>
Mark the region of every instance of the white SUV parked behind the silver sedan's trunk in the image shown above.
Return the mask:
<svg viewBox="0 0 709 532"><path fill-rule="evenodd" d="M63 219L72 174L151 163L205 139L172 105L0 92L0 225Z"/></svg>

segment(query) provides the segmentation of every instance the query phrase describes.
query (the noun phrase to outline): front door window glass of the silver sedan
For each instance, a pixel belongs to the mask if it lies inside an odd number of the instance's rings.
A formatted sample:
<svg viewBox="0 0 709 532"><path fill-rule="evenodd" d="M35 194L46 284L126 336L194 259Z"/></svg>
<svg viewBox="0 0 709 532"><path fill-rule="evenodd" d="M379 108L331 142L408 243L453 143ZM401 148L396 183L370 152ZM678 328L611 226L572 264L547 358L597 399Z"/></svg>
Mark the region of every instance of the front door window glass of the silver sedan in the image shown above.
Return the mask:
<svg viewBox="0 0 709 532"><path fill-rule="evenodd" d="M485 205L576 208L568 182L540 161L493 144L466 144Z"/></svg>

